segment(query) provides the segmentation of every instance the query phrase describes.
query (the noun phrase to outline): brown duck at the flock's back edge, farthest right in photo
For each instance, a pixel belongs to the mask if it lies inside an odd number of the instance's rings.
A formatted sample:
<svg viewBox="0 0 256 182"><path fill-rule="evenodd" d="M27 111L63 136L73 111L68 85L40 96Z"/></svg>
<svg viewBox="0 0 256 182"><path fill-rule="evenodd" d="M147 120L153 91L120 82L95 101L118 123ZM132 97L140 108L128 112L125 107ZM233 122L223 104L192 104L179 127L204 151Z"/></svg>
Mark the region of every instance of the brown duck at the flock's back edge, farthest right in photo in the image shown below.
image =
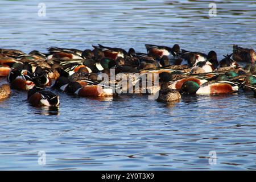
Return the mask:
<svg viewBox="0 0 256 182"><path fill-rule="evenodd" d="M233 45L233 60L255 63L256 52L254 49L242 48L237 45Z"/></svg>

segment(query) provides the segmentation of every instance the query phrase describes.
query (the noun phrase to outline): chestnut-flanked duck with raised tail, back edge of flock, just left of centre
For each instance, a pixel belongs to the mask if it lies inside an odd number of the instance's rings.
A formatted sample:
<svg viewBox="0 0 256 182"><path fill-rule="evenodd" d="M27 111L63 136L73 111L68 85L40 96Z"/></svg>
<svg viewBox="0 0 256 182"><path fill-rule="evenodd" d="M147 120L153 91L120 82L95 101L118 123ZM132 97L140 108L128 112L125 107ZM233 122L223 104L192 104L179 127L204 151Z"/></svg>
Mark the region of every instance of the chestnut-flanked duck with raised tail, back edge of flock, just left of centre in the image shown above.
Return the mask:
<svg viewBox="0 0 256 182"><path fill-rule="evenodd" d="M94 49L100 49L104 52L104 56L116 60L117 57L125 57L127 55L127 52L122 48L113 48L113 47L106 47L102 46L101 44L98 44L98 46L93 46Z"/></svg>

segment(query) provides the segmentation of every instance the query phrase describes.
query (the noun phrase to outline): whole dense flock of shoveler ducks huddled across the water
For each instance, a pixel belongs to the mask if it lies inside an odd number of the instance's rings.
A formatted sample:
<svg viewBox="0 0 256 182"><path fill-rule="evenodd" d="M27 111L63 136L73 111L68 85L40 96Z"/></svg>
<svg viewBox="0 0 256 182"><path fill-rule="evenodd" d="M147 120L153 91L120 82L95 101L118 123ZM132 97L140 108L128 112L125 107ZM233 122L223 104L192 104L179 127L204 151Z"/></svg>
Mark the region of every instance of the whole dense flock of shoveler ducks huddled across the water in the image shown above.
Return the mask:
<svg viewBox="0 0 256 182"><path fill-rule="evenodd" d="M158 74L159 84L133 93L156 94L159 101L180 100L182 94L231 94L239 89L256 94L256 53L253 49L233 46L233 52L218 61L215 51L208 54L186 51L178 44L173 47L146 44L147 53L130 48L105 47L93 49L50 47L48 53L16 49L0 49L0 76L7 84L0 86L0 99L11 95L11 89L26 90L33 106L58 106L59 96L51 89L59 89L79 97L106 97L116 93L100 73L132 75L130 85L114 80L122 93L135 84L142 85L141 75ZM238 63L242 63L241 66ZM139 74L131 74L139 73ZM139 77L138 77L139 75ZM104 80L105 79L105 80ZM145 81L145 80L144 80ZM137 92L138 91L138 92Z"/></svg>

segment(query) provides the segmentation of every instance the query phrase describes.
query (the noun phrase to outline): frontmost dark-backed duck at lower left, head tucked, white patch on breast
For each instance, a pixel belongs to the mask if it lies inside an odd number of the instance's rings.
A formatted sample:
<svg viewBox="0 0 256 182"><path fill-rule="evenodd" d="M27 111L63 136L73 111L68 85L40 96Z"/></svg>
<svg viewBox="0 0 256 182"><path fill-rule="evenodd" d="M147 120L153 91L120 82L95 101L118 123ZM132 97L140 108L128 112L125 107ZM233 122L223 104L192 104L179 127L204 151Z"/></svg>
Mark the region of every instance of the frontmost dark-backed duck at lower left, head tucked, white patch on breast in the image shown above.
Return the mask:
<svg viewBox="0 0 256 182"><path fill-rule="evenodd" d="M32 106L36 107L58 106L60 104L59 96L36 86L28 90L27 99Z"/></svg>

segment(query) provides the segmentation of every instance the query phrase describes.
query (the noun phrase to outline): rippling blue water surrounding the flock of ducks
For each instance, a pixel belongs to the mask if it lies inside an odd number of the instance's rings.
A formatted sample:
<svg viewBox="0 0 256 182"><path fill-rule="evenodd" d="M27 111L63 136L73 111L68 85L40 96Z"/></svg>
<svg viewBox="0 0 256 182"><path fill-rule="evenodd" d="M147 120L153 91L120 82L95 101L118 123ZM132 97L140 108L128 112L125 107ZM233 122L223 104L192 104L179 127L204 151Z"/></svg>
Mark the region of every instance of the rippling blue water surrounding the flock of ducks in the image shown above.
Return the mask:
<svg viewBox="0 0 256 182"><path fill-rule="evenodd" d="M0 2L0 47L24 52L101 43L145 52L144 44L208 52L256 48L256 2ZM0 82L5 82L1 78ZM25 92L0 101L0 169L256 169L256 98L183 96L165 104L147 96L79 98L60 94L59 108L30 106ZM46 165L38 152L46 152ZM209 152L217 164L209 164Z"/></svg>

